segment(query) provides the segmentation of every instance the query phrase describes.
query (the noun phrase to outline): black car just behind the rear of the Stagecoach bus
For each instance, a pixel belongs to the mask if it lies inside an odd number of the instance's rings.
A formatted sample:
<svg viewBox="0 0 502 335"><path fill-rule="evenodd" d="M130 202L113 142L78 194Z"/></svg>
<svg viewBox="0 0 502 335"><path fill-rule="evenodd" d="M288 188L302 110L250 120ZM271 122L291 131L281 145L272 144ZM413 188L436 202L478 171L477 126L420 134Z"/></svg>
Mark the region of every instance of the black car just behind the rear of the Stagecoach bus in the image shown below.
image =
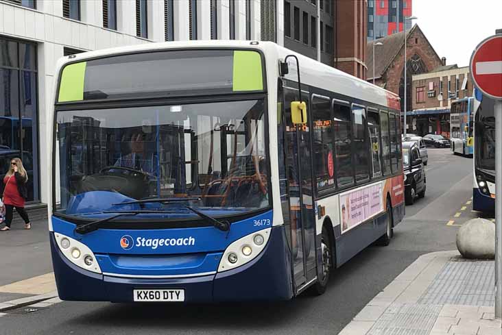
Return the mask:
<svg viewBox="0 0 502 335"><path fill-rule="evenodd" d="M425 197L425 167L415 141L403 142L403 172L405 173L405 201L413 205L415 198Z"/></svg>

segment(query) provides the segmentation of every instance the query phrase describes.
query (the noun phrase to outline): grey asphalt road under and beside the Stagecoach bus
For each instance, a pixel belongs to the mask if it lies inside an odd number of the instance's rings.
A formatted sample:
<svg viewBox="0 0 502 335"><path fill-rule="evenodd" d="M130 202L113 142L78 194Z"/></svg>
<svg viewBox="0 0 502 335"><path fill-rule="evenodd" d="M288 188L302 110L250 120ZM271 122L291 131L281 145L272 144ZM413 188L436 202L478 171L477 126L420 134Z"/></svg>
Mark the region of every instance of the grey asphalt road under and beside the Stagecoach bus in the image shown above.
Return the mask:
<svg viewBox="0 0 502 335"><path fill-rule="evenodd" d="M37 312L1 317L0 334L338 334L418 256L455 249L459 225L477 216L469 203L472 164L472 159L453 156L449 149L429 149L425 198L407 206L405 220L394 229L388 247L368 247L344 264L320 297L197 306L64 301ZM48 257L38 266L32 264L33 258L21 264L43 268ZM1 273L3 277L4 269Z"/></svg>

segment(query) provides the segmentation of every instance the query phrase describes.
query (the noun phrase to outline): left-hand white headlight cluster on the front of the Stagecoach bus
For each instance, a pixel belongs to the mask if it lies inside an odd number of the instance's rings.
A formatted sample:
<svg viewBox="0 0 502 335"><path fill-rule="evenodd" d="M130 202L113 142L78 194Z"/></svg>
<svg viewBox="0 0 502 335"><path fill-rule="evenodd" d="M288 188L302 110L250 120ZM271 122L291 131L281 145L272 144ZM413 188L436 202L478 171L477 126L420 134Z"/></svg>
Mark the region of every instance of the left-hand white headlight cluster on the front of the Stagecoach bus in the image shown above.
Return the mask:
<svg viewBox="0 0 502 335"><path fill-rule="evenodd" d="M101 273L99 264L95 262L96 257L93 251L84 245L84 243L60 233L54 233L54 237L61 253L67 260L82 269Z"/></svg>

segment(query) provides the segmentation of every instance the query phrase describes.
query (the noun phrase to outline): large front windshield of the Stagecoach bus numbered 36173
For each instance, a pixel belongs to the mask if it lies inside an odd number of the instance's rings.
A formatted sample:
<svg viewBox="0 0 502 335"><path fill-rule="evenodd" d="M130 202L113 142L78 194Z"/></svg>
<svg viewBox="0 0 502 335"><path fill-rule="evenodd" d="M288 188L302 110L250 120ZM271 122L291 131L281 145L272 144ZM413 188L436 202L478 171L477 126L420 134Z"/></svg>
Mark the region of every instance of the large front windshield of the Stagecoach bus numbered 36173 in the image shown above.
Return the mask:
<svg viewBox="0 0 502 335"><path fill-rule="evenodd" d="M174 197L195 198L190 206L215 216L269 206L263 99L63 110L56 118L60 214L138 210L114 204ZM198 217L165 214L171 203L142 206L168 220Z"/></svg>

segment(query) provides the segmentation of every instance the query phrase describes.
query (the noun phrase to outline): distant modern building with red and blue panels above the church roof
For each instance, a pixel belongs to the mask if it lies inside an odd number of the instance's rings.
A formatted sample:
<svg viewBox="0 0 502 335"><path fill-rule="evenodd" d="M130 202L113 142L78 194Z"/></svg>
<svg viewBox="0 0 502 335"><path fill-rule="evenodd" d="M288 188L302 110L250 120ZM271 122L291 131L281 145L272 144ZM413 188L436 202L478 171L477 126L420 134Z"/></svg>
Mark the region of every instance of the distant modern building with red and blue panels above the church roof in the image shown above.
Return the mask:
<svg viewBox="0 0 502 335"><path fill-rule="evenodd" d="M412 0L368 0L368 41L403 31L404 18L412 15ZM406 22L406 30L411 22Z"/></svg>

